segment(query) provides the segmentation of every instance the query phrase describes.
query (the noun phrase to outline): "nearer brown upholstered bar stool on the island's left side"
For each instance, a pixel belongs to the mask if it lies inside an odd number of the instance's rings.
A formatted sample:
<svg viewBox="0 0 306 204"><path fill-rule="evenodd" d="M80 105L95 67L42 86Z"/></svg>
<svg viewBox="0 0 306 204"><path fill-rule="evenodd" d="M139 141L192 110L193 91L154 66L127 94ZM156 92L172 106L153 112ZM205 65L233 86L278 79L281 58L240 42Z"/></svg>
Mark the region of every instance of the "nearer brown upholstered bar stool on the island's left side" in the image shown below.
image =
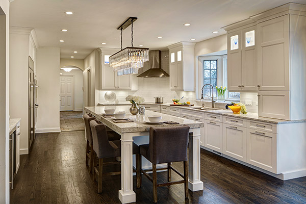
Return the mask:
<svg viewBox="0 0 306 204"><path fill-rule="evenodd" d="M95 156L99 159L98 164L96 164L96 160L94 161L93 168L93 180L95 180L95 176L98 176L98 193L102 192L102 175L117 175L121 172L110 172L103 173L103 166L105 164L114 164L116 162L104 163L104 159L106 158L116 158L121 156L121 140L113 140L110 141L108 138L108 132L106 131L106 126L102 123L99 123L98 120L90 121L90 128L92 132L93 139L93 151L95 152ZM139 166L139 146L133 142L133 154L136 154L136 177L139 180L140 174L140 166Z"/></svg>

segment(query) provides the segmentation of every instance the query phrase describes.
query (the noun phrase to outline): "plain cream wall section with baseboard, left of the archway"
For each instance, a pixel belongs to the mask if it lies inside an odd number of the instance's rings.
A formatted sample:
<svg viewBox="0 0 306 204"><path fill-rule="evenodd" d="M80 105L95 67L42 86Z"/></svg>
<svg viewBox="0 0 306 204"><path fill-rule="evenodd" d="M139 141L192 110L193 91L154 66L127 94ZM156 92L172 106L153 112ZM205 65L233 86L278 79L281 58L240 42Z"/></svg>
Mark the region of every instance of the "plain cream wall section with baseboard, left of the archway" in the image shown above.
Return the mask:
<svg viewBox="0 0 306 204"><path fill-rule="evenodd" d="M60 48L38 48L36 61L39 86L36 133L60 132Z"/></svg>

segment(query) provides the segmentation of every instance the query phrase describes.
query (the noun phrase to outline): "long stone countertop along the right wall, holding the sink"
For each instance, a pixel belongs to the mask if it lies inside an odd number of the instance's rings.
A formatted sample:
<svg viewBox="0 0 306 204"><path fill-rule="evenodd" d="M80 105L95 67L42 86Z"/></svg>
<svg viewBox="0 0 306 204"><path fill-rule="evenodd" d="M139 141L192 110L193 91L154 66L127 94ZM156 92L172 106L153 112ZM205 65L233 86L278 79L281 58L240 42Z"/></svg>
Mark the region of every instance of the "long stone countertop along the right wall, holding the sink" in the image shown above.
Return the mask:
<svg viewBox="0 0 306 204"><path fill-rule="evenodd" d="M168 107L175 107L170 106L170 104L163 104L162 106L168 106ZM193 108L201 108L200 106L191 106L191 107L185 107L185 106L177 106L176 108L181 109L189 109L191 111L196 112L205 112L205 113L213 113L223 116L231 116L236 118L242 118L242 119L251 119L251 120L257 120L261 122L270 122L270 123L276 123L276 124L283 124L283 123L296 123L296 122L306 122L306 120L281 120L281 119L274 119L274 118L265 118L258 116L257 113L247 113L247 114L234 114L231 110L198 110Z"/></svg>

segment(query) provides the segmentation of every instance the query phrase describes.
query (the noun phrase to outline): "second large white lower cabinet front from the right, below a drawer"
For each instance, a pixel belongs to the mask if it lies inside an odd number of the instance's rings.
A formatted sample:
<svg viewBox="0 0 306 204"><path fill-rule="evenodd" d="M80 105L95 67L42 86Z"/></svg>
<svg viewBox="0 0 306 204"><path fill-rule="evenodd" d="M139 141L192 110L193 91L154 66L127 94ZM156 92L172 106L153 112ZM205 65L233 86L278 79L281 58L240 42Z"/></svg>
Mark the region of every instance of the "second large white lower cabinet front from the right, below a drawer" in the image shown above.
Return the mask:
<svg viewBox="0 0 306 204"><path fill-rule="evenodd" d="M246 128L223 124L223 154L246 162Z"/></svg>

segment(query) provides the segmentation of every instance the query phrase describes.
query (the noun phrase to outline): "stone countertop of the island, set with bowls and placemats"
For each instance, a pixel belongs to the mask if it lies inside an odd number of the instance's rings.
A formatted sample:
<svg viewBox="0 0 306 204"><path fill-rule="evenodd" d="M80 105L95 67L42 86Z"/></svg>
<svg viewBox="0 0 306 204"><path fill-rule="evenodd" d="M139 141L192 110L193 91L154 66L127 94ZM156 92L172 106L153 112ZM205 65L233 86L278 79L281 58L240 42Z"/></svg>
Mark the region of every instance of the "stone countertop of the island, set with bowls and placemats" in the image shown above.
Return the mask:
<svg viewBox="0 0 306 204"><path fill-rule="evenodd" d="M163 113L157 113L153 111L145 111L145 115L132 115L130 114L130 107L128 106L116 106L116 111L115 112L120 112L124 111L126 113L126 117L129 117L131 119L135 119L134 122L124 122L124 123L115 123L113 122L112 118L104 118L103 114L104 109L107 106L95 106L95 107L84 107L84 110L91 113L94 115L98 120L101 122L105 123L107 126L109 126L111 129L119 132L119 133L135 133L135 132L147 132L150 129L150 126L159 126L159 127L169 127L169 126L181 126L181 125L188 125L191 128L197 128L197 127L203 127L204 123L186 119L186 118L181 118L181 117L176 117L176 116L170 116L167 114ZM149 121L147 116L148 115L161 115L162 120L161 121L175 121L179 122L180 124L156 124L156 125L150 125L146 124L144 121Z"/></svg>

